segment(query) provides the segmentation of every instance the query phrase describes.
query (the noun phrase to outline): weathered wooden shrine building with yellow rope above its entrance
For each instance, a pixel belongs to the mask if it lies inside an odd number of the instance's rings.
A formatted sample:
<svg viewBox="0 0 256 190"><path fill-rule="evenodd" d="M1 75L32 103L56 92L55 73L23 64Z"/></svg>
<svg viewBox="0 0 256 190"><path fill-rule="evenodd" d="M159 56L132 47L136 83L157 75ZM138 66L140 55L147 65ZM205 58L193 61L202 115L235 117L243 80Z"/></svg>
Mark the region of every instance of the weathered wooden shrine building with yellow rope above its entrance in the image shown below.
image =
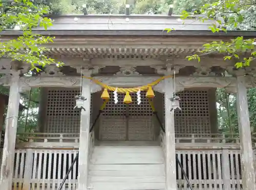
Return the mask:
<svg viewBox="0 0 256 190"><path fill-rule="evenodd" d="M55 37L43 53L65 65L31 72L0 60L10 87L1 190L57 190L63 179L65 190L256 189L247 102L254 62L236 69L219 53L186 59L205 43L254 31L212 33L215 21L176 15L51 18L34 32ZM2 31L0 40L21 34ZM31 88L40 88L37 129L17 133L20 93ZM217 88L237 97L239 134L219 131Z"/></svg>

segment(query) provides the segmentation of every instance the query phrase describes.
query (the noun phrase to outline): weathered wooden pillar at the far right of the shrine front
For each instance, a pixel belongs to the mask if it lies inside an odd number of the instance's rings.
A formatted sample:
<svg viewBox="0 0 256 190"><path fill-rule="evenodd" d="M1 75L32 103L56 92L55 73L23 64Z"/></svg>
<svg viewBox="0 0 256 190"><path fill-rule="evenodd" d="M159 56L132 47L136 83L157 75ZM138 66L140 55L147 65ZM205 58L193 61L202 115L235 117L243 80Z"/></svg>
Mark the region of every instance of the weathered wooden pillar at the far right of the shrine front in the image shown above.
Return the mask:
<svg viewBox="0 0 256 190"><path fill-rule="evenodd" d="M256 189L247 90L245 87L244 76L237 77L237 112L240 134L243 189Z"/></svg>

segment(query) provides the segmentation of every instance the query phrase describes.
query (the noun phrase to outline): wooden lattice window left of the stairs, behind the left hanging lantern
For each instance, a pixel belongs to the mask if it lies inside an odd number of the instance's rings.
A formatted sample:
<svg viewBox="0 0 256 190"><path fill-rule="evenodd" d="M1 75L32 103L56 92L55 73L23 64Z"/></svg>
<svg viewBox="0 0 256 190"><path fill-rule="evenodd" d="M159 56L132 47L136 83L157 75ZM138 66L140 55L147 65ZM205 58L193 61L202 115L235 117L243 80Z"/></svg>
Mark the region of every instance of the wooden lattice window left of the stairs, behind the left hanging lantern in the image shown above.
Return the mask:
<svg viewBox="0 0 256 190"><path fill-rule="evenodd" d="M75 96L78 94L78 88L47 89L46 132L79 132L80 111L74 110Z"/></svg>

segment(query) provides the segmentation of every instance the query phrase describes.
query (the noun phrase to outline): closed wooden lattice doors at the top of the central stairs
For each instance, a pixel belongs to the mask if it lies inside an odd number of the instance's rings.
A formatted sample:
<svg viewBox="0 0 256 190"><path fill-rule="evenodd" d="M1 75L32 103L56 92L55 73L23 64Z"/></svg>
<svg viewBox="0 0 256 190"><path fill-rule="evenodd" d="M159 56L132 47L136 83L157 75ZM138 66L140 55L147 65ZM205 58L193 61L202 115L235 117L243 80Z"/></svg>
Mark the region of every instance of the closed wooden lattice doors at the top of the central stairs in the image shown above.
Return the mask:
<svg viewBox="0 0 256 190"><path fill-rule="evenodd" d="M156 127L153 112L146 92L141 92L141 103L137 95L131 94L133 102L124 104L124 94L119 94L115 104L113 94L100 118L99 139L101 141L154 141Z"/></svg>

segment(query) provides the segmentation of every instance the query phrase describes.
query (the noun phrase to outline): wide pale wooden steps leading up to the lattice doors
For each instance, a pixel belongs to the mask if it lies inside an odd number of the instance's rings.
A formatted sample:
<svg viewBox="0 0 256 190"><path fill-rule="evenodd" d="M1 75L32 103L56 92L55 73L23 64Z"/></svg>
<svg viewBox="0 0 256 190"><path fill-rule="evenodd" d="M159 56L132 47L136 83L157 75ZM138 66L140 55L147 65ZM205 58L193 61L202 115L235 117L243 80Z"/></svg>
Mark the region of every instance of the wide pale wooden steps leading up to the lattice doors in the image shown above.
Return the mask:
<svg viewBox="0 0 256 190"><path fill-rule="evenodd" d="M95 146L89 189L165 189L163 153L156 143L101 142Z"/></svg>

